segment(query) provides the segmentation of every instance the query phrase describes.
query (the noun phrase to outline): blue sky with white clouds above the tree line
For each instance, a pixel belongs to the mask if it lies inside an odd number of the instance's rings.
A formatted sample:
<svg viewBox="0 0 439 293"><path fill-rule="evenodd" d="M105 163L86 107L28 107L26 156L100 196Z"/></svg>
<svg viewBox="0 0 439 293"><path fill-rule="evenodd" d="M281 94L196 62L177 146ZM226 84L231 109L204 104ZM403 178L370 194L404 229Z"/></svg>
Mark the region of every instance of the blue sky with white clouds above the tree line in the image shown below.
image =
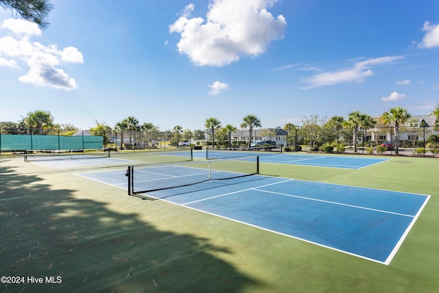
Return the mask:
<svg viewBox="0 0 439 293"><path fill-rule="evenodd" d="M439 105L437 0L51 3L44 31L0 8L0 121L274 128Z"/></svg>

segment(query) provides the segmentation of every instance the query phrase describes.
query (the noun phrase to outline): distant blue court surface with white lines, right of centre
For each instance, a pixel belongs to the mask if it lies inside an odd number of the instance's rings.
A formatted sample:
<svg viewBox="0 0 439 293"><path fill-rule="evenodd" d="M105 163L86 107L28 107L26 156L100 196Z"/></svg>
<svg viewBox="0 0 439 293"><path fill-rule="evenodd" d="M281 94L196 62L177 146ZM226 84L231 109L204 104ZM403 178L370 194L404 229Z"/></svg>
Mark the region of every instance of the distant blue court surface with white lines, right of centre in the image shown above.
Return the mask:
<svg viewBox="0 0 439 293"><path fill-rule="evenodd" d="M330 156L320 154L297 154L297 153L278 153L278 152L240 152L240 151L219 151L209 150L209 156L217 159L243 155L259 156L263 163L281 163L291 165L307 165L317 167L335 167L343 169L361 169L388 161L386 158L364 156ZM194 158L206 159L205 151L193 151Z"/></svg>

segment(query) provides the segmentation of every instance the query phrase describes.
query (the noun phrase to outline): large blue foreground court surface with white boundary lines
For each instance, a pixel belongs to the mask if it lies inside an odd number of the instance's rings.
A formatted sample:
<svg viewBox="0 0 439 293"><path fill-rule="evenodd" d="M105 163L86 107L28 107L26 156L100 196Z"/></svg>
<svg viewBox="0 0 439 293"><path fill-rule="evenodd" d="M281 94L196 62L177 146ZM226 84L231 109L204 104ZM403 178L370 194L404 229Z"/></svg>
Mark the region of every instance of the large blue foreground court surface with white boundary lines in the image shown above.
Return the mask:
<svg viewBox="0 0 439 293"><path fill-rule="evenodd" d="M80 176L126 189L124 173ZM429 200L423 194L257 175L147 196L386 265Z"/></svg>

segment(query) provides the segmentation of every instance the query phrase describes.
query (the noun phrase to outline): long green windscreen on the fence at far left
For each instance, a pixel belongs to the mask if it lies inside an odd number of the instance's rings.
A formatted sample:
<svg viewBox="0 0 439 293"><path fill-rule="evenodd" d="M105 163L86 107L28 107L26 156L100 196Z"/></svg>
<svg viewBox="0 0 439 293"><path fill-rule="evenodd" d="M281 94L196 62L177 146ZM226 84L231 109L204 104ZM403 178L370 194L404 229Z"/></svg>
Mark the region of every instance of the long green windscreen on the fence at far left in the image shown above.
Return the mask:
<svg viewBox="0 0 439 293"><path fill-rule="evenodd" d="M66 137L62 135L0 135L0 150L85 150L102 148L99 136Z"/></svg>

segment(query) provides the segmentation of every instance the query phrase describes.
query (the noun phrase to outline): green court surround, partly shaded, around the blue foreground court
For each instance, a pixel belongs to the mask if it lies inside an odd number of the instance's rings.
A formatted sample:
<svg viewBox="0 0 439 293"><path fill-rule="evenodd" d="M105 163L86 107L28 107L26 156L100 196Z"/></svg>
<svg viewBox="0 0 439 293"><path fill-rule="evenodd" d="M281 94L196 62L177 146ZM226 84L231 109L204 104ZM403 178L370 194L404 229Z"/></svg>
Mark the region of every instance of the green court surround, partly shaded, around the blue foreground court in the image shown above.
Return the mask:
<svg viewBox="0 0 439 293"><path fill-rule="evenodd" d="M430 195L388 266L78 176L126 163L0 159L0 276L24 281L1 283L0 292L439 292L439 161L388 159L362 169L260 169Z"/></svg>

